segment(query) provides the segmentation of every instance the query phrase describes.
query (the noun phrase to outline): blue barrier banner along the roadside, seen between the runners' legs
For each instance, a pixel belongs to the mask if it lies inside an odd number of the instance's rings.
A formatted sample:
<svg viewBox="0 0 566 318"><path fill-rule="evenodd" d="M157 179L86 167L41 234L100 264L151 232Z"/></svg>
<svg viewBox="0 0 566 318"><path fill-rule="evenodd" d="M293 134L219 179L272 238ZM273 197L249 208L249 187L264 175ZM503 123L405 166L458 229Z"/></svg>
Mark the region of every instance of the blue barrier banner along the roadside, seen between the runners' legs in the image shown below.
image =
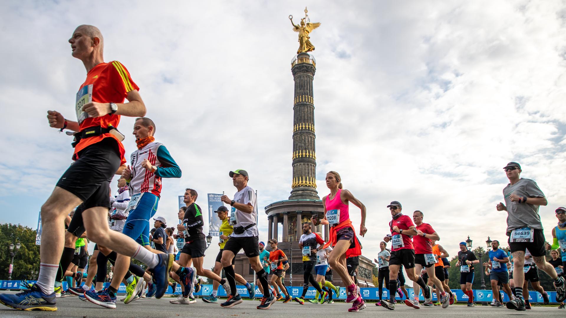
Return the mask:
<svg viewBox="0 0 566 318"><path fill-rule="evenodd" d="M28 282L32 282L35 283L35 281L28 281ZM110 285L110 283L104 283L104 288L108 287ZM289 293L289 295L291 295L291 297L297 297L297 296L301 296L301 294L303 293L303 287L302 286L286 286L287 287L287 292ZM237 285L236 288L238 289L238 294L240 294L243 298L247 298L250 296L250 294L247 291L246 286L243 285ZM20 290L20 289L25 289L23 286L20 286L20 281L0 281L0 289L9 289L9 290ZM67 289L67 282L64 281L63 282L63 290ZM407 289L408 293L409 293L409 297L413 298L413 289L412 288L408 288ZM491 290L480 290L480 289L474 289L474 302L478 303L478 302L491 302L492 300L492 292ZM126 293L126 285L124 285L123 283L120 284L120 288L118 289L118 293L119 294L125 294ZM208 296L212 293L212 285L200 285L200 290L198 293L193 293L195 296ZM307 291L307 295L306 295L306 299L310 299L310 298L314 298L316 293L316 290L314 289L314 287L308 287L308 291ZM362 294L362 298L363 299L367 299L367 300L377 300L379 299L379 289L376 287L360 287L360 293ZM452 293L454 293L456 295L456 299L458 300L458 302L467 302L468 301L468 295L464 295L464 292L462 292L462 290L460 289L453 289ZM550 302L551 303L556 303L556 291L547 291L548 293L548 298L550 298ZM175 290L175 293L173 293L173 290L171 289L171 286L168 287L168 290L165 292L165 295L171 295L171 294L181 294L181 286L177 286L177 290ZM432 300L437 300L436 298L436 294L433 293L432 294ZM224 291L224 288L222 288L222 286L218 287L218 296L226 296L226 292ZM259 291L259 287L255 286L255 297L261 297L263 296L261 294L261 292ZM344 287L340 288L340 295L334 296L335 299L346 299L346 289ZM399 295L397 294L397 299L401 299L399 297ZM419 297L421 300L424 300L424 297L422 296L422 292L421 292L421 296ZM389 291L386 289L383 289L383 294L381 294L381 299L389 299ZM503 293L503 301L504 302L508 302L509 301L509 297L507 296L507 294ZM537 291L532 291L529 290L529 302L531 303L542 303L543 299L541 294L539 294Z"/></svg>

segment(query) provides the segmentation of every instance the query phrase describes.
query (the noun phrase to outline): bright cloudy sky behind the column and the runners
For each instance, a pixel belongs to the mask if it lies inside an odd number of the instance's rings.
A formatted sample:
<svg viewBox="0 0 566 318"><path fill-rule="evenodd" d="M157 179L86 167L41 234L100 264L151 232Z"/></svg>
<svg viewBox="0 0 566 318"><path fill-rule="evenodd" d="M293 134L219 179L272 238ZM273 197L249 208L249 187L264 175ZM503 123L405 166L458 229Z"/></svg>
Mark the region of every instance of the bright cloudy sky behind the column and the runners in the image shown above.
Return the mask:
<svg viewBox="0 0 566 318"><path fill-rule="evenodd" d="M467 235L474 246L504 240L495 205L509 161L546 194L551 239L554 209L566 205L564 1L3 1L0 222L35 228L71 162L71 137L45 115L73 117L85 70L67 39L93 24L105 61L128 68L183 171L164 180L158 215L173 225L186 187L203 207L209 192L232 195L228 171L246 169L267 239L263 208L290 192L298 43L288 16L305 5L322 23L311 33L318 191L328 193L325 173L336 170L366 205L364 255L376 256L392 200L406 214L422 210L452 255ZM123 117L119 127L128 154L132 124ZM350 213L358 226L359 210Z"/></svg>

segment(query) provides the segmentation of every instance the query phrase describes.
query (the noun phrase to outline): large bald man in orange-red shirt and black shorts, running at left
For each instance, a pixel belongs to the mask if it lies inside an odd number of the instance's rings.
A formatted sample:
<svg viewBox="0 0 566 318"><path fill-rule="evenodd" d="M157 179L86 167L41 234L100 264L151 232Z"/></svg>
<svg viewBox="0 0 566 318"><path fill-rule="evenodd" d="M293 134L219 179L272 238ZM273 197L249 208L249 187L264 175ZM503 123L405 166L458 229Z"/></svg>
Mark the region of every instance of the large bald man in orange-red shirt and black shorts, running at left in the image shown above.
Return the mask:
<svg viewBox="0 0 566 318"><path fill-rule="evenodd" d="M87 78L79 87L70 121L58 111L49 110L49 126L75 131L75 162L65 171L52 195L41 207L43 240L40 274L33 287L23 293L1 294L0 303L19 310L55 311L54 282L64 245L63 220L67 213L83 204L82 222L88 238L123 255L134 257L153 272L160 298L168 286L172 255L156 254L141 247L135 240L110 230L108 210L109 188L114 174L126 162L121 144L123 135L116 127L120 116L143 117L145 105L138 86L119 62L104 62L103 38L92 25L79 25L71 38L72 56L80 59ZM123 104L125 98L129 101ZM76 236L79 233L75 233Z"/></svg>

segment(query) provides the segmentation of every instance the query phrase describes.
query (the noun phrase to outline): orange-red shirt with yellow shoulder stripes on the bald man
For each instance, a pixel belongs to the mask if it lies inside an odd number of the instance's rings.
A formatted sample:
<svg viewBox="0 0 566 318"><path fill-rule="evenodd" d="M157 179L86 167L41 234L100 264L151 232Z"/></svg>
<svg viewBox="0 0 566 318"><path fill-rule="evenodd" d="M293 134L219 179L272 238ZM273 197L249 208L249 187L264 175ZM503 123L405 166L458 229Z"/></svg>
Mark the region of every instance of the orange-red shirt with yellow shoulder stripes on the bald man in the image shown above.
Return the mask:
<svg viewBox="0 0 566 318"><path fill-rule="evenodd" d="M139 90L139 87L136 83L134 83L134 81L132 81L130 73L126 70L126 67L124 67L122 63L112 61L110 63L100 63L93 67L92 70L87 73L87 79L80 86L79 92L76 96L75 111L79 121L79 129L84 130L85 128L96 126L106 128L110 125L117 128L120 122L120 115L106 114L102 117L84 118L85 113L82 111L82 105L90 101L101 103L114 102L121 104L126 99L128 93L134 91L134 89ZM87 148L89 145L96 144L107 137L112 137L117 141L121 164L125 164L126 159L124 158L124 146L117 137L112 134L103 134L100 136L81 139L79 144L75 147L73 159L77 160L77 153L82 151L84 148Z"/></svg>

